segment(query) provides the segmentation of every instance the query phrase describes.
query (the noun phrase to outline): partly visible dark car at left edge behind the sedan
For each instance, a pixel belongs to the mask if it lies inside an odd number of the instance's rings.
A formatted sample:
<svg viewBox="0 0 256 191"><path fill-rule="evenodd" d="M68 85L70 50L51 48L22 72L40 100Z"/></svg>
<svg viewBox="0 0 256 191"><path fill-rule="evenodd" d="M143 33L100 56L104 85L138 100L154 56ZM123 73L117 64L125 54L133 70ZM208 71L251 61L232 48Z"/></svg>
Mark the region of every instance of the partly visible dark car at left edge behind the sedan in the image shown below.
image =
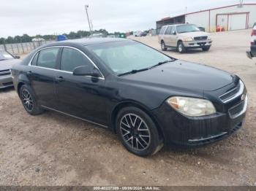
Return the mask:
<svg viewBox="0 0 256 191"><path fill-rule="evenodd" d="M19 56L13 56L9 52L0 50L0 89L13 86L11 69L18 63Z"/></svg>

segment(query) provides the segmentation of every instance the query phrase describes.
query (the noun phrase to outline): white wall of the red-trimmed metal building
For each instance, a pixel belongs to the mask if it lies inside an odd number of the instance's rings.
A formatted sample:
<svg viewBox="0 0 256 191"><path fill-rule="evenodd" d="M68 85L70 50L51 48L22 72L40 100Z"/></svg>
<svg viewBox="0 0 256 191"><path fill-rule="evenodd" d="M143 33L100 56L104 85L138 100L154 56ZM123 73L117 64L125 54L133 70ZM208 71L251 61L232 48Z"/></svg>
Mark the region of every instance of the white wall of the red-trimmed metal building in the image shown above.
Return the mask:
<svg viewBox="0 0 256 191"><path fill-rule="evenodd" d="M216 15L225 14L225 13L234 13L234 12L249 12L249 28L253 26L253 23L256 22L256 4L253 5L243 5L243 7L226 7L222 9L213 9L210 10L210 31L215 31L216 27ZM193 14L186 15L186 22L194 23L197 26L203 26L206 28L206 31L209 31L209 11L197 12ZM244 26L246 23L244 23Z"/></svg>

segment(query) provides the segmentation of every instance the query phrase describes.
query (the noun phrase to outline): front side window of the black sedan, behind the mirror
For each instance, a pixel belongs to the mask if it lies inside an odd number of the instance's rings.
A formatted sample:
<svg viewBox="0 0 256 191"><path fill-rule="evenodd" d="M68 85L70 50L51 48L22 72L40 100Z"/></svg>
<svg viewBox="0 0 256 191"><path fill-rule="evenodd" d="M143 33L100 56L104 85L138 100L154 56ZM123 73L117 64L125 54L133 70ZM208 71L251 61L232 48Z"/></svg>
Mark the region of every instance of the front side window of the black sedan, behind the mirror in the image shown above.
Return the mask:
<svg viewBox="0 0 256 191"><path fill-rule="evenodd" d="M61 70L74 71L78 66L90 66L91 62L78 50L64 47L61 55Z"/></svg>

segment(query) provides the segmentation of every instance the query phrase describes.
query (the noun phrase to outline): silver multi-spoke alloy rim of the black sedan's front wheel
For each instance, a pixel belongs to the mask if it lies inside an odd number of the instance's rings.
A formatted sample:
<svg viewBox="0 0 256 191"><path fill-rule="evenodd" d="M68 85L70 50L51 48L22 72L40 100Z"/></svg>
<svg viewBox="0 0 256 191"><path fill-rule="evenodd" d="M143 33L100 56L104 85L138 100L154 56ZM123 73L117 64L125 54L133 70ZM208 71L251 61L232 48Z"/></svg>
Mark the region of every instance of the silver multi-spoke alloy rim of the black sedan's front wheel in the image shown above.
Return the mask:
<svg viewBox="0 0 256 191"><path fill-rule="evenodd" d="M132 149L147 149L151 136L148 125L137 114L125 114L120 121L121 136Z"/></svg>

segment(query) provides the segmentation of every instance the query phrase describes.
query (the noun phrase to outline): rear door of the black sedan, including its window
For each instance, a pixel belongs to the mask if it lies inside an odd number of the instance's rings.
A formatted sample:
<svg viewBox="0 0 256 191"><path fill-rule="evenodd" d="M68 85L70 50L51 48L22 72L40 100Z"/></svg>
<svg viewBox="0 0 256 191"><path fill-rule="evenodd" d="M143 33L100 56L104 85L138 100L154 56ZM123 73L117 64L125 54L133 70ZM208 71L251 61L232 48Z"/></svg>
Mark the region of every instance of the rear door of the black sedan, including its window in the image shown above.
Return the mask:
<svg viewBox="0 0 256 191"><path fill-rule="evenodd" d="M56 66L59 61L59 47L49 47L37 52L27 76L40 105L56 108L55 90Z"/></svg>

